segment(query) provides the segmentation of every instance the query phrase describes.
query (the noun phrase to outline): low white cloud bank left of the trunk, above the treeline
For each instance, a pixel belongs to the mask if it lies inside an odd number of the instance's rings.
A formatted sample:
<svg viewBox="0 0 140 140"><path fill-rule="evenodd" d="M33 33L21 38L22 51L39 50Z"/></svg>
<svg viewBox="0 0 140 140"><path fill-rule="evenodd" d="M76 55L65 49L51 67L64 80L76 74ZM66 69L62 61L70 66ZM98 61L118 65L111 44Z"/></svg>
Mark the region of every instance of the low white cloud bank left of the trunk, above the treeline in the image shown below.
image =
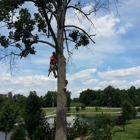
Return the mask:
<svg viewBox="0 0 140 140"><path fill-rule="evenodd" d="M44 75L11 77L8 73L2 73L0 77L0 89L4 89L0 93L11 91L14 94L28 95L29 91L33 90L39 94L56 90L56 79L52 78L51 75L50 77Z"/></svg>

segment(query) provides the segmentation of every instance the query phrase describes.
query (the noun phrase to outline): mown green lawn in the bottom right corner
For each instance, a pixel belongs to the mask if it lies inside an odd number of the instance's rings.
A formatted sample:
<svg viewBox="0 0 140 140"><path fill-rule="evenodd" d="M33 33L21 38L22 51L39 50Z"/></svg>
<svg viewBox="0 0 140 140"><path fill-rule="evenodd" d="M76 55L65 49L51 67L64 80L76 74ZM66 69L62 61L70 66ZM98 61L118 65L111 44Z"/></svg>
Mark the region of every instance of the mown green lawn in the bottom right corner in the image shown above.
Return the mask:
<svg viewBox="0 0 140 140"><path fill-rule="evenodd" d="M112 140L140 140L138 139L140 119L131 120L130 124L125 126L125 129L125 131L122 131L122 127L115 126L115 134Z"/></svg>

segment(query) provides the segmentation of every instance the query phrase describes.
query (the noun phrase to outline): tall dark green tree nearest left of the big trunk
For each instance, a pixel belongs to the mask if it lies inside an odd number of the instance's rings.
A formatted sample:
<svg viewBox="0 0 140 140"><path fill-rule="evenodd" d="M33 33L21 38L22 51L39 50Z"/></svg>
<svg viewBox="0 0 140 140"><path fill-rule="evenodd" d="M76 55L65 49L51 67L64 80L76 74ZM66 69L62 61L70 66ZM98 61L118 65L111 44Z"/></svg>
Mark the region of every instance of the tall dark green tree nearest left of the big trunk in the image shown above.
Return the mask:
<svg viewBox="0 0 140 140"><path fill-rule="evenodd" d="M31 91L26 100L24 113L25 130L30 140L45 139L46 126L43 119L44 116L39 97L35 91Z"/></svg>

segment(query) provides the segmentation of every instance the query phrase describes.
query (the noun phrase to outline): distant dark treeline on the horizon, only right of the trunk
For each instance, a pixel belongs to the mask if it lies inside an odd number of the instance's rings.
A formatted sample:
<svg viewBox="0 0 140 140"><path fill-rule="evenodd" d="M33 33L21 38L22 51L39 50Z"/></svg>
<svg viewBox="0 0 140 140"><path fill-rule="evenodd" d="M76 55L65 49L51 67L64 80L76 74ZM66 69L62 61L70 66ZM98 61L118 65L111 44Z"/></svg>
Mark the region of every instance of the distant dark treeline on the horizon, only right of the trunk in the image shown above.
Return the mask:
<svg viewBox="0 0 140 140"><path fill-rule="evenodd" d="M84 103L86 106L120 107L122 101L127 100L133 106L140 106L140 88L131 86L129 89L120 90L108 86L104 90L87 89L80 93L79 98L73 101Z"/></svg>

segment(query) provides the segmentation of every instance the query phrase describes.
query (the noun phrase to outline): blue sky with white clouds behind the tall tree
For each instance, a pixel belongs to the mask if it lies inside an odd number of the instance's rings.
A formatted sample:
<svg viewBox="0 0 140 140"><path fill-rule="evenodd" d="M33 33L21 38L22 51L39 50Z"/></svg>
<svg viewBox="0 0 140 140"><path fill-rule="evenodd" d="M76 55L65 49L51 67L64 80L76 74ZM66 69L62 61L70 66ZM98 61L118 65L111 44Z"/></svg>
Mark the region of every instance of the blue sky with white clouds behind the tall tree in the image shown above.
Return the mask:
<svg viewBox="0 0 140 140"><path fill-rule="evenodd" d="M92 0L86 2L84 11L91 8ZM24 7L35 10L31 3ZM67 90L71 91L71 98L79 97L84 90L103 90L109 85L119 89L140 88L140 0L123 0L118 11L119 15L112 7L110 13L99 11L96 17L92 14L94 28L83 17L81 22L76 20L76 11L68 11L66 24L73 23L89 34L96 34L93 38L96 43L88 47L73 50L70 43L73 52L70 59L65 50ZM0 33L8 32L0 28ZM36 91L38 96L44 96L48 91L57 90L57 79L52 73L47 76L53 48L44 44L35 47L36 55L16 60L12 75L8 61L0 61L1 94L12 92L28 96L30 91Z"/></svg>

